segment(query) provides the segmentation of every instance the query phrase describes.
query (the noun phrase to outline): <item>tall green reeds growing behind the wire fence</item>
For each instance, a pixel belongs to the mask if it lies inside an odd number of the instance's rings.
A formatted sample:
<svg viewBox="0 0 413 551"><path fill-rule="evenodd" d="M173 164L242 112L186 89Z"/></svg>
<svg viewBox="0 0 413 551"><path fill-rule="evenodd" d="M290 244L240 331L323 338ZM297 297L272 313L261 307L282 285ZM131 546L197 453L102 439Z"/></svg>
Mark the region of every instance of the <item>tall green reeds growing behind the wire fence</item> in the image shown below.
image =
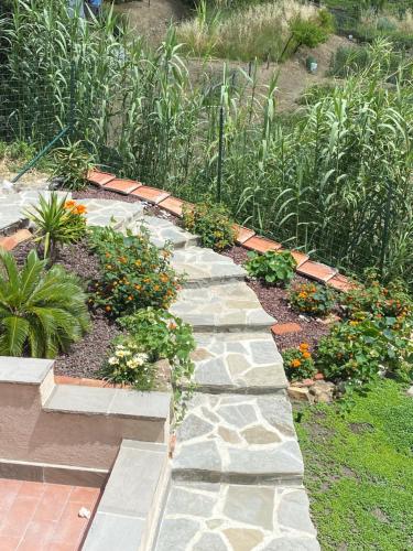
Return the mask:
<svg viewBox="0 0 413 551"><path fill-rule="evenodd" d="M412 67L403 86L384 85L388 43L285 118L276 80L263 91L254 67L233 77L222 65L220 83L205 75L193 84L173 31L152 52L111 12L90 24L53 0L14 2L9 85L12 93L30 83L32 98L21 117L39 118L42 94L50 116L66 123L72 64L76 139L109 170L199 201L216 196L224 107L222 201L240 223L349 271L384 260L385 277L413 288Z"/></svg>

